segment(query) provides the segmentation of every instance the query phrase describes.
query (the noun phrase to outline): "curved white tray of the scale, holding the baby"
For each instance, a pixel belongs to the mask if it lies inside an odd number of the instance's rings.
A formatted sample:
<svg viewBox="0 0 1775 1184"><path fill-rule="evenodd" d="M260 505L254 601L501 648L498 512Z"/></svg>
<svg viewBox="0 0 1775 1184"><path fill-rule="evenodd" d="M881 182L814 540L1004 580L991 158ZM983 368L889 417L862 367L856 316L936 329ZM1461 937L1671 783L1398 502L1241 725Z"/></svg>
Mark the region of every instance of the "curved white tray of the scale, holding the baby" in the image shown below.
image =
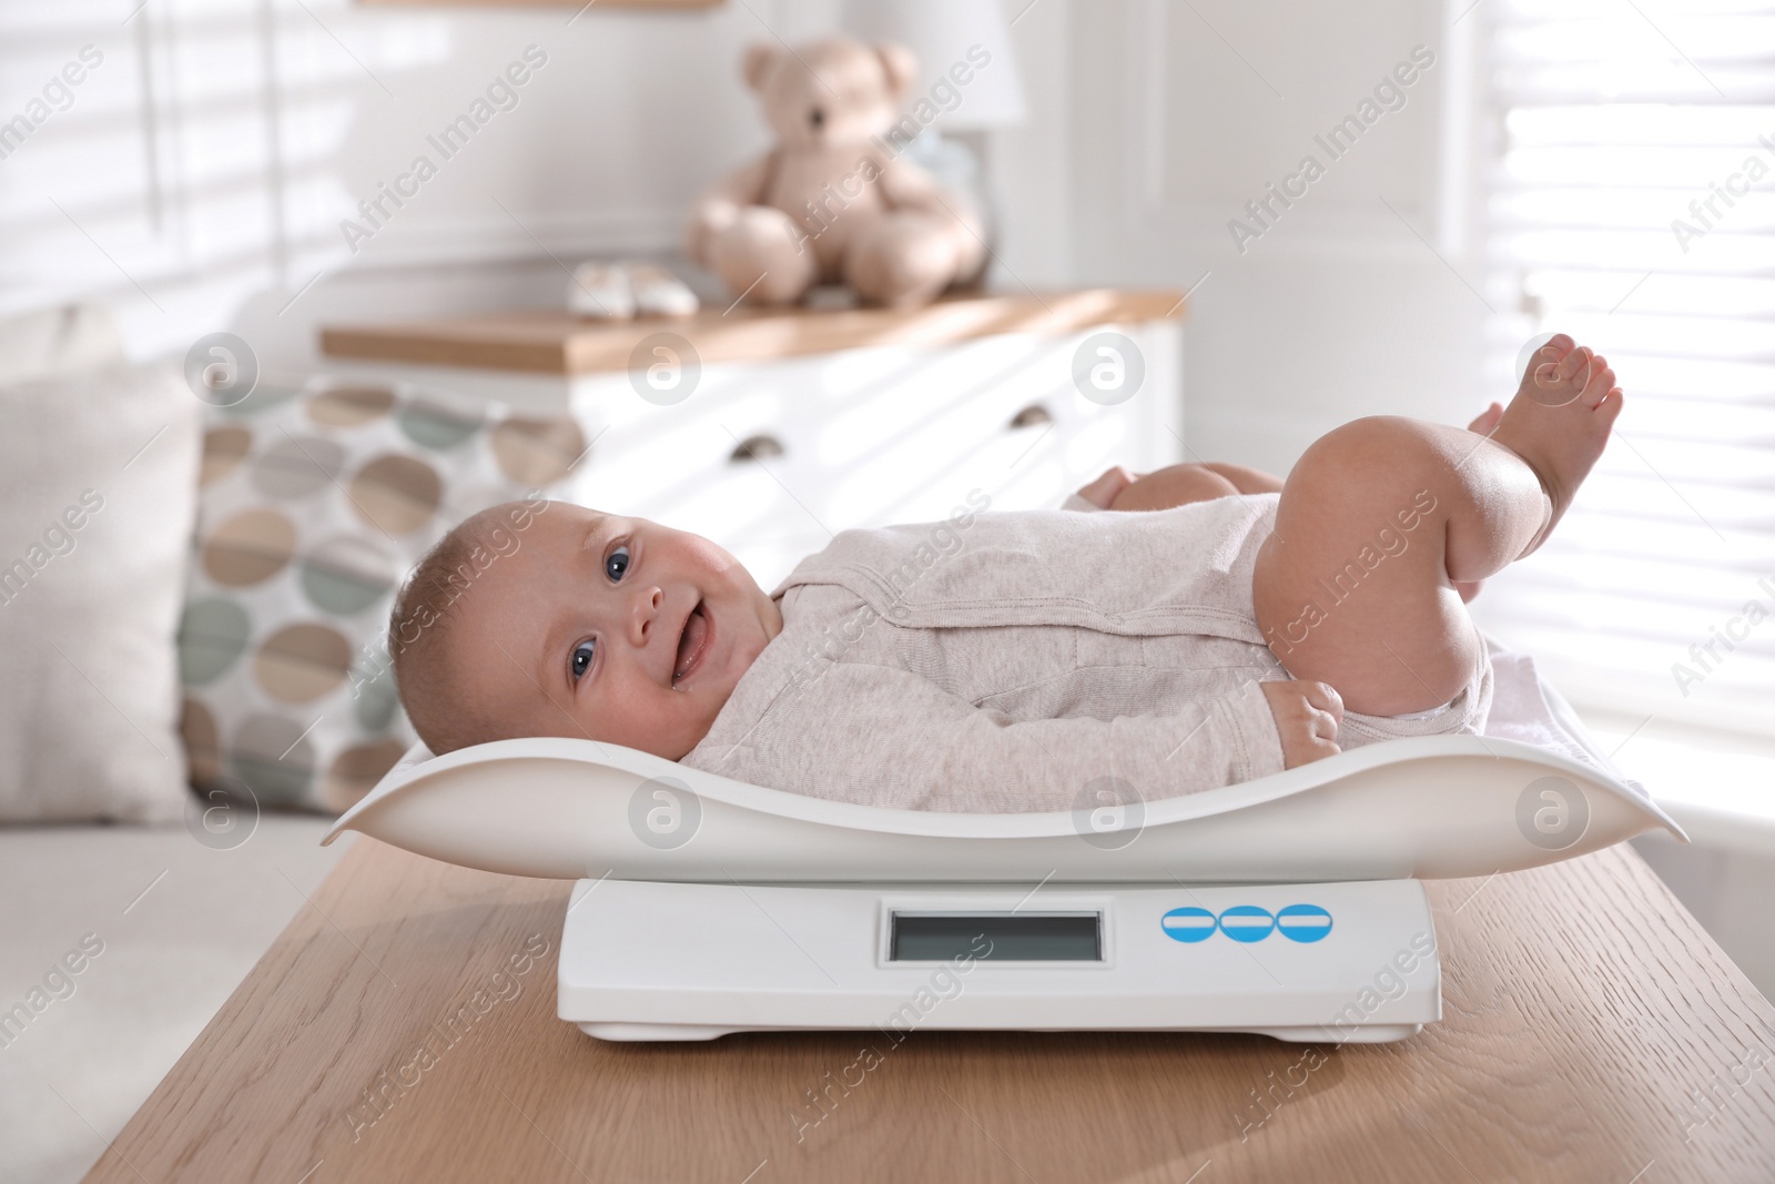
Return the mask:
<svg viewBox="0 0 1775 1184"><path fill-rule="evenodd" d="M694 793L669 840L689 834L676 847L660 847L651 834L653 843L643 841L644 825L630 822L655 806L660 786L648 783L657 777ZM1555 781L1535 786L1544 777ZM1535 831L1537 811L1551 834ZM1491 875L1656 827L1688 841L1621 781L1496 737L1388 740L1257 781L1150 801L1124 845L1116 843L1127 834L1086 840L1086 817L1074 811L856 806L612 744L541 737L446 756L414 749L321 841L362 831L433 859L552 879L1285 884Z"/></svg>

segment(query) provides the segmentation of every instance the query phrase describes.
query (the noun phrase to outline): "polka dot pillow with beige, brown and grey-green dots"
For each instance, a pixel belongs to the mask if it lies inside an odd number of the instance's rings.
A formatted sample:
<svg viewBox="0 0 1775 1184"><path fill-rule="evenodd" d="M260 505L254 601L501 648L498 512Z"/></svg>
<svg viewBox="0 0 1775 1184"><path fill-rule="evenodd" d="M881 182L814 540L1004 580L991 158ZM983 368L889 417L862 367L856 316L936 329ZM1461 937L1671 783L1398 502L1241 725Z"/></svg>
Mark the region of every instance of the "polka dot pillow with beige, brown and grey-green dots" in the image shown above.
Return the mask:
<svg viewBox="0 0 1775 1184"><path fill-rule="evenodd" d="M179 676L201 792L339 813L414 742L383 641L414 563L547 495L579 426L373 385L259 387L211 412Z"/></svg>

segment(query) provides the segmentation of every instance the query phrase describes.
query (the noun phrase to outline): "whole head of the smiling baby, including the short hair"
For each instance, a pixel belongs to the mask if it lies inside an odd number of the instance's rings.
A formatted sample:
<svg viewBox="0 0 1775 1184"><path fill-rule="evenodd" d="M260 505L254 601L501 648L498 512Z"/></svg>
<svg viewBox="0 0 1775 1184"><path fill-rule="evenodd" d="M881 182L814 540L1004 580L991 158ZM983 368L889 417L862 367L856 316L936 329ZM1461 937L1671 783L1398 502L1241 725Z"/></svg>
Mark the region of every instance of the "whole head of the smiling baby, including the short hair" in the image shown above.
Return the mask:
<svg viewBox="0 0 1775 1184"><path fill-rule="evenodd" d="M433 753L575 737L678 760L781 628L706 538L532 501L483 509L419 561L389 653Z"/></svg>

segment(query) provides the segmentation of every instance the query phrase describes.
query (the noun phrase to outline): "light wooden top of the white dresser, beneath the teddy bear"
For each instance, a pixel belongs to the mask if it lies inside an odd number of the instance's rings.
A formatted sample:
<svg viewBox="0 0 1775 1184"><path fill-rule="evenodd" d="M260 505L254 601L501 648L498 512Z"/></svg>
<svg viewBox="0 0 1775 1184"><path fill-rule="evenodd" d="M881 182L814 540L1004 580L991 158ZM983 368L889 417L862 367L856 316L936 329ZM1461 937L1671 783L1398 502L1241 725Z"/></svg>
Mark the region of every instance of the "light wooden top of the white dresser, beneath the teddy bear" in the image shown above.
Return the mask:
<svg viewBox="0 0 1775 1184"><path fill-rule="evenodd" d="M529 309L403 325L334 325L321 330L321 351L364 362L593 375L630 369L635 346L660 332L689 341L703 362L742 362L859 346L935 348L1014 332L1061 334L1182 312L1179 291L1113 288L1026 296L955 295L921 309L710 307L682 320L598 321L566 311Z"/></svg>

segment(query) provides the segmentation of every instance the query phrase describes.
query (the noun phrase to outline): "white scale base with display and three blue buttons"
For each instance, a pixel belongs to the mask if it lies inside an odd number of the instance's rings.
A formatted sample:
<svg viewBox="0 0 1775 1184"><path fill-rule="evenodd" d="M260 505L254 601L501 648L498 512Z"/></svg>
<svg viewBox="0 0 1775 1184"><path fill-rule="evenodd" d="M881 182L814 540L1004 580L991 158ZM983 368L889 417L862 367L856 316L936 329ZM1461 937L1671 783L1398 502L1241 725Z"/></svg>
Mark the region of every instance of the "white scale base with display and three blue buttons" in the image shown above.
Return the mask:
<svg viewBox="0 0 1775 1184"><path fill-rule="evenodd" d="M1441 1019L1418 880L580 880L559 1015L604 1040L735 1031L1250 1031L1386 1042Z"/></svg>

